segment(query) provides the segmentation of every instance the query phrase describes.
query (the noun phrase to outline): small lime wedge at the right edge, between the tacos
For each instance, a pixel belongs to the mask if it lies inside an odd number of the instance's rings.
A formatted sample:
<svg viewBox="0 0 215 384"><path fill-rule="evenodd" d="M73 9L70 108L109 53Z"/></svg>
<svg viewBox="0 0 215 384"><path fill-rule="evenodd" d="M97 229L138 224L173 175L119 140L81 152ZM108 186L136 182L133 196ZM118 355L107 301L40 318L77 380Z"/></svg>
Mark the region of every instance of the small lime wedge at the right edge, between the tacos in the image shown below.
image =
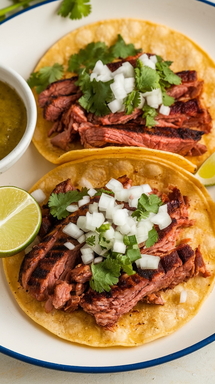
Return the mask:
<svg viewBox="0 0 215 384"><path fill-rule="evenodd" d="M205 160L196 172L195 177L204 184L205 187L215 185L215 152Z"/></svg>

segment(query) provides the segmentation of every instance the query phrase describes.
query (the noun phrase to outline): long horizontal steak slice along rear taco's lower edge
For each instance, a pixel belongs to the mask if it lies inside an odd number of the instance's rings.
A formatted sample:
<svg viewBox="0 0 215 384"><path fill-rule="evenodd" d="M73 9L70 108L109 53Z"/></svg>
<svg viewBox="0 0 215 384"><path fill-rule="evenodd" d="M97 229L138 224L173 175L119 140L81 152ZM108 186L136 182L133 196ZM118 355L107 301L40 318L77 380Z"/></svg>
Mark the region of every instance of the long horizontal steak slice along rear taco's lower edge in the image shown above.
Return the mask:
<svg viewBox="0 0 215 384"><path fill-rule="evenodd" d="M79 134L81 144L85 148L102 147L107 143L113 143L159 149L182 156L187 154L197 156L207 151L206 146L198 143L204 132L191 129L148 128L131 122L114 126L82 123Z"/></svg>

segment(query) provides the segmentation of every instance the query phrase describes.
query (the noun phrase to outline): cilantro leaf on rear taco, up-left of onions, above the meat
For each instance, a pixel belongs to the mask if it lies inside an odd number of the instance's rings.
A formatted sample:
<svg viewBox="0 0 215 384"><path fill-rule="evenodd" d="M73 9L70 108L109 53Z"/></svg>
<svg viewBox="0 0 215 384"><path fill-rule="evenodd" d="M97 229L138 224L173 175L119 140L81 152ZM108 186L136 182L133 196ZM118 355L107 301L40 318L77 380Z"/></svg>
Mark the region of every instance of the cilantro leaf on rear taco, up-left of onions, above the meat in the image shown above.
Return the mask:
<svg viewBox="0 0 215 384"><path fill-rule="evenodd" d="M113 60L112 55L108 53L107 45L101 41L87 44L84 49L80 49L79 53L70 56L68 70L78 73L80 68L85 67L85 71L88 73L94 68L98 59L102 60L103 64Z"/></svg>

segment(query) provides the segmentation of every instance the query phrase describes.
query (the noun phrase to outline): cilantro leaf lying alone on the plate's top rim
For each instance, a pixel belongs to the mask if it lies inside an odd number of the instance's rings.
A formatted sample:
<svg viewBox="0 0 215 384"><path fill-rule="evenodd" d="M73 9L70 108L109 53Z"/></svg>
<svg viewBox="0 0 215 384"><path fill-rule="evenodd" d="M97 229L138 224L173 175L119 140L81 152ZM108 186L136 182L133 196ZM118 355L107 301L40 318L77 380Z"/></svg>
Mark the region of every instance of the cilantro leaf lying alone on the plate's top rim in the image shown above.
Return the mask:
<svg viewBox="0 0 215 384"><path fill-rule="evenodd" d="M91 12L91 5L87 4L89 2L90 0L63 0L57 14L62 17L69 15L72 20L81 19Z"/></svg>

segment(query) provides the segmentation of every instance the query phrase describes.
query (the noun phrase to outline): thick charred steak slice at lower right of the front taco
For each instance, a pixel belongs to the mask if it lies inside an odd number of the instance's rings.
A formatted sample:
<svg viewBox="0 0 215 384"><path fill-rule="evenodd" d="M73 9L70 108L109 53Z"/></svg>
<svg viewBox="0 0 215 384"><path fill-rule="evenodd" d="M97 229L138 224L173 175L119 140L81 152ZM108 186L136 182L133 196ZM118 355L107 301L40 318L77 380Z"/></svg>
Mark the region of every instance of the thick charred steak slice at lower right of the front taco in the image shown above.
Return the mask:
<svg viewBox="0 0 215 384"><path fill-rule="evenodd" d="M173 288L194 270L195 253L189 245L180 245L161 258L157 270L138 268L135 275L121 275L110 292L97 293L91 288L80 299L84 311L95 316L97 324L113 330L124 313L142 298L165 288Z"/></svg>

